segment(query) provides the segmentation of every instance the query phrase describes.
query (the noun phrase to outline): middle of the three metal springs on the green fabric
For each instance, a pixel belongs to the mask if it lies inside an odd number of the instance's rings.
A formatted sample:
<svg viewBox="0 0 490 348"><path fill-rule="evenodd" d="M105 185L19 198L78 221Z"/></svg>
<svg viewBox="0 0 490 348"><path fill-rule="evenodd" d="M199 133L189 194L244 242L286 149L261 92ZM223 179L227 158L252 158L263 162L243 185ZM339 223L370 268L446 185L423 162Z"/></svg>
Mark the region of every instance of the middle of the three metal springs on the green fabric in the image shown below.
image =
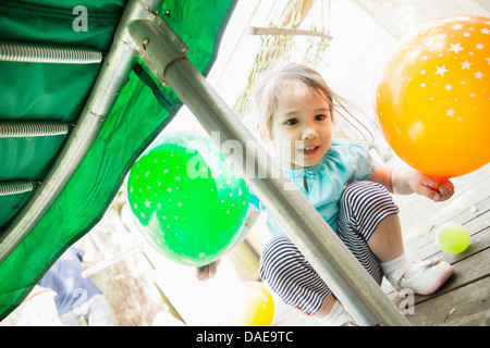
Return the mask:
<svg viewBox="0 0 490 348"><path fill-rule="evenodd" d="M63 135L69 125L56 122L0 122L0 138L24 138Z"/></svg>

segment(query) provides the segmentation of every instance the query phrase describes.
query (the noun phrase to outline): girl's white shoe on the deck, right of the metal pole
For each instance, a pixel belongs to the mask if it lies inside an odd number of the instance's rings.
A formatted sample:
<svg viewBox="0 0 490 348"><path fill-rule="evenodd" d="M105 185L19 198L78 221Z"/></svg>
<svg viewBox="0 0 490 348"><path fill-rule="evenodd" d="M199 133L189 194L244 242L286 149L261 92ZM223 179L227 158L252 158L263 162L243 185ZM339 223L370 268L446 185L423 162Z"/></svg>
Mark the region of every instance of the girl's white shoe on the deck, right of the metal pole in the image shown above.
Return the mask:
<svg viewBox="0 0 490 348"><path fill-rule="evenodd" d="M406 276L412 266L419 268L418 272ZM429 295L437 291L453 273L454 268L439 257L428 261L405 262L387 278L396 290L412 289L418 295Z"/></svg>

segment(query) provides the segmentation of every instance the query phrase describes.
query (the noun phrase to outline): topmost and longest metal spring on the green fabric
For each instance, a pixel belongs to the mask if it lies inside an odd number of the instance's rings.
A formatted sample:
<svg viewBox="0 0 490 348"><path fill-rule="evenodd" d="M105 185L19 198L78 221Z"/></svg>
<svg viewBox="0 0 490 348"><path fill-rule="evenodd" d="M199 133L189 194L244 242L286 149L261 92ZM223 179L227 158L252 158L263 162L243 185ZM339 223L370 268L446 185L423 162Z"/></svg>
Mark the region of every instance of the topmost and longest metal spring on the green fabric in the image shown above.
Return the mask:
<svg viewBox="0 0 490 348"><path fill-rule="evenodd" d="M94 64L102 61L102 53L91 48L0 41L0 61Z"/></svg>

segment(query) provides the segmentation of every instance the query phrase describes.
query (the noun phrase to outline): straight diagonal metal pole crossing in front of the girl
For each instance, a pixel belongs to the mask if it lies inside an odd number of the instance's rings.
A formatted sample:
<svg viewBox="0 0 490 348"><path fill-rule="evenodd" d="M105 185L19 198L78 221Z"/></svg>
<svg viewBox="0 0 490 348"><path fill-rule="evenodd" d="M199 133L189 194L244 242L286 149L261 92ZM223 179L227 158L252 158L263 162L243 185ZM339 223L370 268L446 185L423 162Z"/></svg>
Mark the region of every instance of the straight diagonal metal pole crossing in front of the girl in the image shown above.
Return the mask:
<svg viewBox="0 0 490 348"><path fill-rule="evenodd" d="M237 140L246 149L224 154L354 319L362 325L409 325L205 77L182 58L182 50L170 44L175 38L164 38L168 33L159 30L155 22L139 22L130 33L147 65L160 82L172 87L208 134L219 132L219 137L215 134L211 138L220 147ZM267 175L249 175L249 169Z"/></svg>

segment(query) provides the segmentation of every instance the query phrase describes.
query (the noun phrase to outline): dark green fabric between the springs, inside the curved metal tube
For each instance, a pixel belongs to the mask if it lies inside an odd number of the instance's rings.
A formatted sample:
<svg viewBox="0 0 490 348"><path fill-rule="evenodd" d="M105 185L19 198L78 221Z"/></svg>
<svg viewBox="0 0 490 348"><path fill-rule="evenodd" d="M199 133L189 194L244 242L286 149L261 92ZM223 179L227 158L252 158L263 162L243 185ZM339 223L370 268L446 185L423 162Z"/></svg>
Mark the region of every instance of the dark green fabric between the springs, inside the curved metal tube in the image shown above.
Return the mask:
<svg viewBox="0 0 490 348"><path fill-rule="evenodd" d="M62 8L58 3L0 1L0 39L109 49L124 0L85 1L87 32L73 30L77 17L73 8L79 1L64 1ZM0 121L75 124L99 70L100 64L0 62ZM0 138L0 182L42 182L66 138ZM0 197L0 229L8 226L30 194L21 196Z"/></svg>

